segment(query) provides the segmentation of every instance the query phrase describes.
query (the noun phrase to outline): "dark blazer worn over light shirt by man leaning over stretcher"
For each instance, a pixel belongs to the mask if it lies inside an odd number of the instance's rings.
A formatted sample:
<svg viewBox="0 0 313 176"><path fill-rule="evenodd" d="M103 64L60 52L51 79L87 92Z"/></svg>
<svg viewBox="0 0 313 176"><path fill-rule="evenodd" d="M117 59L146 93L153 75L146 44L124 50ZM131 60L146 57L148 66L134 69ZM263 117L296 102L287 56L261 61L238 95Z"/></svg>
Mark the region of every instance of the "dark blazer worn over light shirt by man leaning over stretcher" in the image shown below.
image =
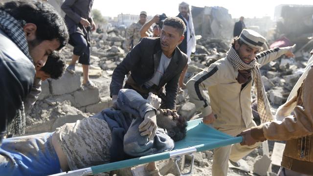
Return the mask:
<svg viewBox="0 0 313 176"><path fill-rule="evenodd" d="M156 90L160 90L165 85L165 108L176 108L176 96L179 76L187 64L187 55L182 53L178 47L174 51L171 62L162 76ZM110 92L117 95L123 87L125 75L131 71L130 77L138 87L142 87L149 81L160 63L161 46L159 38L143 38L133 50L131 50L124 60L116 66L112 74Z"/></svg>

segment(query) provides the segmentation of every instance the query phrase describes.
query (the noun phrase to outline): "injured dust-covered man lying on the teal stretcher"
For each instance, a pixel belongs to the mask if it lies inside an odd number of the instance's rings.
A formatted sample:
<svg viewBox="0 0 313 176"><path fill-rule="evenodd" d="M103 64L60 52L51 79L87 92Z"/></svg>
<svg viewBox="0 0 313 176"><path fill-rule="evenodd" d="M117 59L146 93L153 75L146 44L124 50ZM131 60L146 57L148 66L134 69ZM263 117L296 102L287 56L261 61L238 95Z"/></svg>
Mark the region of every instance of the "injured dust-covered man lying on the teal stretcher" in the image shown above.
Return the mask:
<svg viewBox="0 0 313 176"><path fill-rule="evenodd" d="M175 110L157 110L159 105L154 94L145 100L135 90L121 89L115 109L67 123L55 132L4 139L0 173L51 175L61 169L65 172L170 151L174 141L185 137L187 125Z"/></svg>

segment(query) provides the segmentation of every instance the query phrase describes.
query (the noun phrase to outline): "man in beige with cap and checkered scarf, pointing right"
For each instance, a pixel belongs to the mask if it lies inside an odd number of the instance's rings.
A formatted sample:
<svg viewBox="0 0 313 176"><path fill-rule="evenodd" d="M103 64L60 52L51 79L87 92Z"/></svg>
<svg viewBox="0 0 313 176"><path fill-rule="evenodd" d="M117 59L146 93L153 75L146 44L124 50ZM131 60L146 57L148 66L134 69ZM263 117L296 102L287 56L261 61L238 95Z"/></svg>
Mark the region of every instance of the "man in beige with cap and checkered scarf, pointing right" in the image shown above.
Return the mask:
<svg viewBox="0 0 313 176"><path fill-rule="evenodd" d="M272 120L269 102L261 80L259 67L282 55L293 56L291 47L277 47L260 52L266 39L259 33L244 29L234 38L226 57L211 64L187 83L190 101L201 109L203 122L229 135L256 126L251 110L251 87L254 82L258 112L262 122ZM208 89L209 99L203 95ZM235 144L214 150L212 175L226 176L228 160L236 163L258 148Z"/></svg>

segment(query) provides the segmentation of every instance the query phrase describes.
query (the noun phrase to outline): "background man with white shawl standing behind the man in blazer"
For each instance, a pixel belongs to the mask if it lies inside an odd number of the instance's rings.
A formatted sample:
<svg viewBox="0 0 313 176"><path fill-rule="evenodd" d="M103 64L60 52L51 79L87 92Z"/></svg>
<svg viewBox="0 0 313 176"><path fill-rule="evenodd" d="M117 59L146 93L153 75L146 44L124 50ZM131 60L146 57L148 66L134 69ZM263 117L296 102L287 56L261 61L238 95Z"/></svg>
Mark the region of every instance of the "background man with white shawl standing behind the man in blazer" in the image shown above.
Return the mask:
<svg viewBox="0 0 313 176"><path fill-rule="evenodd" d="M179 77L179 88L186 87L184 85L183 81L186 75L186 71L188 68L188 64L191 62L190 56L192 52L196 51L196 34L195 34L195 28L194 23L192 21L192 15L189 8L189 4L186 2L181 2L179 4L179 14L178 16L183 22L185 22L186 25L186 31L184 32L184 40L179 44L179 49L187 54L188 56L188 62L186 67L181 72L181 75Z"/></svg>

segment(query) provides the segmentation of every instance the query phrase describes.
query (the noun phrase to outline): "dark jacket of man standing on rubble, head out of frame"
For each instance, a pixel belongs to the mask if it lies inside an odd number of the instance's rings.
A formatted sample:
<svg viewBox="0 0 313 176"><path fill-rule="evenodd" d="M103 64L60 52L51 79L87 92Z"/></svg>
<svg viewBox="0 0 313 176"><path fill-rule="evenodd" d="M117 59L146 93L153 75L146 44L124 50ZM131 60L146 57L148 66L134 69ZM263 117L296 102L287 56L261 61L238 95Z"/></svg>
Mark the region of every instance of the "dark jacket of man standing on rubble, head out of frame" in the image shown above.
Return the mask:
<svg viewBox="0 0 313 176"><path fill-rule="evenodd" d="M87 19L90 23L93 21L91 17L91 7L93 0L65 0L61 8L66 13L65 22L67 24L68 33L75 32L86 35L87 29L80 24L81 18Z"/></svg>

